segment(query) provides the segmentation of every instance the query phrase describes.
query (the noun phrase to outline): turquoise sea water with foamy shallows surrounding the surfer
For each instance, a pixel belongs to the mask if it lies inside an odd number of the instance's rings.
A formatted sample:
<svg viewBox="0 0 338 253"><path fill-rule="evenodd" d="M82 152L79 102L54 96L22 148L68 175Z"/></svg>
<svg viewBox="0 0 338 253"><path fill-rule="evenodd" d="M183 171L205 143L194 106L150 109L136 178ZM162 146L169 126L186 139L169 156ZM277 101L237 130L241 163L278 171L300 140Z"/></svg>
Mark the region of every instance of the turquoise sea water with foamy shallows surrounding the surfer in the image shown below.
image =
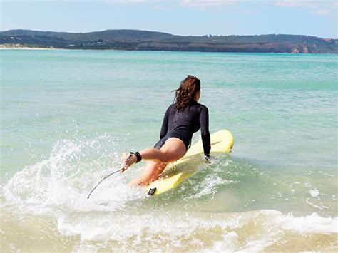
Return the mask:
<svg viewBox="0 0 338 253"><path fill-rule="evenodd" d="M1 252L337 251L336 55L2 50ZM145 197L188 74L231 155ZM200 133L195 133L193 143Z"/></svg>

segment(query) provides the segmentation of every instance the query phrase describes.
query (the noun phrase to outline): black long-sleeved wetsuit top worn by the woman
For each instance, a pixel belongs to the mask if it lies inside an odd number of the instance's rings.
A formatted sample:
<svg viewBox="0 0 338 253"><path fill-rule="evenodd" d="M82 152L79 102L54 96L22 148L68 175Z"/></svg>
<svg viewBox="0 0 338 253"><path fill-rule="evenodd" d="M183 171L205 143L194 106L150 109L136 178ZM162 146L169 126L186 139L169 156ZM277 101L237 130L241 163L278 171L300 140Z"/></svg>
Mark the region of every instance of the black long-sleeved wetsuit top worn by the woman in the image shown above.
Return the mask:
<svg viewBox="0 0 338 253"><path fill-rule="evenodd" d="M165 140L176 137L183 141L185 148L190 147L193 133L200 129L204 154L210 153L210 133L209 133L209 114L205 105L194 102L189 108L178 111L175 103L170 105L165 112L162 128L160 130L160 140L154 148L160 148Z"/></svg>

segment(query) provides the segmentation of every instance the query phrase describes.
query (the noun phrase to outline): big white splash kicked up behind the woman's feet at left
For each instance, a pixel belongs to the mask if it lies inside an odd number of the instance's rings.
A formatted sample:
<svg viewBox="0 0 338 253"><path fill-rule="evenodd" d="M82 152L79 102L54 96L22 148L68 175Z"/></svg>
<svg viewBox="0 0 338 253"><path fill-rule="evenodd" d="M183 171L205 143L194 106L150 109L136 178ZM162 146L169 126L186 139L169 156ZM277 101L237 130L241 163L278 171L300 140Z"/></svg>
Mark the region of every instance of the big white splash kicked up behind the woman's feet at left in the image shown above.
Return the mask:
<svg viewBox="0 0 338 253"><path fill-rule="evenodd" d="M2 189L6 202L88 212L121 210L128 201L143 197L143 192L128 187L126 173L118 173L103 181L87 200L96 183L118 167L117 154L102 150L100 142L101 137L78 143L58 141L49 158L26 166L11 177ZM101 205L104 202L108 205Z"/></svg>

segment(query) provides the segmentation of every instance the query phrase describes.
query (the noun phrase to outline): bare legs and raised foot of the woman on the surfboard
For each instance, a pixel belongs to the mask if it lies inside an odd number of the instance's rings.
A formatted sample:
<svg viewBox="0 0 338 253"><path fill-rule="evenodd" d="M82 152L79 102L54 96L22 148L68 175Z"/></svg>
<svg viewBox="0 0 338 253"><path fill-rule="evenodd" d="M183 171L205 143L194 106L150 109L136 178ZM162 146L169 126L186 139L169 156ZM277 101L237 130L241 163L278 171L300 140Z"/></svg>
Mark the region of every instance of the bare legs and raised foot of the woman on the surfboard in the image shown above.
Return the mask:
<svg viewBox="0 0 338 253"><path fill-rule="evenodd" d="M148 185L150 182L157 180L168 162L174 162L182 158L186 152L187 150L183 141L175 137L168 138L159 150L157 148L141 150L140 155L142 158L151 161L145 166L142 175L133 182L130 182L130 185ZM135 155L132 155L129 161L126 160L127 157L127 154L124 155L123 162L128 162L128 166L133 165L136 161Z"/></svg>

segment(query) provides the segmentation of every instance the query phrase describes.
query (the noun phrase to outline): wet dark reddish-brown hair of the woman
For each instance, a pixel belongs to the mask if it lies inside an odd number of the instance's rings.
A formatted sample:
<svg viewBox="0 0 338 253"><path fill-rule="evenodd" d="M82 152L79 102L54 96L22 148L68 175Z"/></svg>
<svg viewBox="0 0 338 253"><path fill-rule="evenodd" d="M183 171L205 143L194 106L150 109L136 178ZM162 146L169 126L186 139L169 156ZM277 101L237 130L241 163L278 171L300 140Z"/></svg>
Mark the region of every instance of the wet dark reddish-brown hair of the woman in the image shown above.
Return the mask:
<svg viewBox="0 0 338 253"><path fill-rule="evenodd" d="M187 76L175 91L175 105L178 110L185 110L195 101L195 95L200 91L200 79Z"/></svg>

